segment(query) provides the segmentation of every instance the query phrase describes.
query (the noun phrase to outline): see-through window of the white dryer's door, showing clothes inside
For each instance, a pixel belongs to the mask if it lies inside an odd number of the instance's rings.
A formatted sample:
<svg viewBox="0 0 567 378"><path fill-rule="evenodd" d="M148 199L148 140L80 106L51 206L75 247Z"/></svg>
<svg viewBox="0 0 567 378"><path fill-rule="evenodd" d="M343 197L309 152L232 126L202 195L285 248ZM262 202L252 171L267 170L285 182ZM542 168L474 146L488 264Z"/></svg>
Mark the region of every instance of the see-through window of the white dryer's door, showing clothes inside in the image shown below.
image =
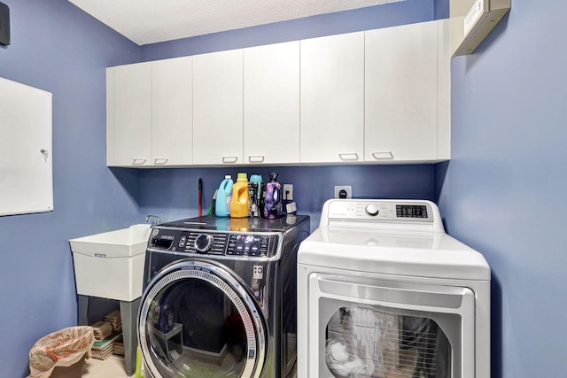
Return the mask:
<svg viewBox="0 0 567 378"><path fill-rule="evenodd" d="M325 362L335 377L448 378L450 345L435 320L350 305L326 328Z"/></svg>

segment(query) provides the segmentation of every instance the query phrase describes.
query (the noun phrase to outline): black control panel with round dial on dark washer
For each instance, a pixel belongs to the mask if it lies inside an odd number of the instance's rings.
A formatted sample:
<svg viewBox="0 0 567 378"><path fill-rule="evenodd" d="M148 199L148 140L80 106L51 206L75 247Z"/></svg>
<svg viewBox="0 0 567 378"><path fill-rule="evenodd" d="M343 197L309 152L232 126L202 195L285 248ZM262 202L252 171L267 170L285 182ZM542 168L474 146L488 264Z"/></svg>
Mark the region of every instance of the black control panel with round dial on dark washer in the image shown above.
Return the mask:
<svg viewBox="0 0 567 378"><path fill-rule="evenodd" d="M154 228L148 248L216 256L266 258L276 254L278 235Z"/></svg>

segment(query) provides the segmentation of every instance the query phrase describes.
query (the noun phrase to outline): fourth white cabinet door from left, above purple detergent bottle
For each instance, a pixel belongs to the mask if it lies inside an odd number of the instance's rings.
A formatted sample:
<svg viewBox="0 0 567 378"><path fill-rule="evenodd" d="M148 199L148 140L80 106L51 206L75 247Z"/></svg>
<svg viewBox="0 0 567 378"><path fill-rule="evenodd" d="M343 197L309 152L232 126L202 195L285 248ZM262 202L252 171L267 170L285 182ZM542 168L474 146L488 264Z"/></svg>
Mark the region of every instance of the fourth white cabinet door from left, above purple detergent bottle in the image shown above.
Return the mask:
<svg viewBox="0 0 567 378"><path fill-rule="evenodd" d="M244 158L299 163L299 41L244 50Z"/></svg>

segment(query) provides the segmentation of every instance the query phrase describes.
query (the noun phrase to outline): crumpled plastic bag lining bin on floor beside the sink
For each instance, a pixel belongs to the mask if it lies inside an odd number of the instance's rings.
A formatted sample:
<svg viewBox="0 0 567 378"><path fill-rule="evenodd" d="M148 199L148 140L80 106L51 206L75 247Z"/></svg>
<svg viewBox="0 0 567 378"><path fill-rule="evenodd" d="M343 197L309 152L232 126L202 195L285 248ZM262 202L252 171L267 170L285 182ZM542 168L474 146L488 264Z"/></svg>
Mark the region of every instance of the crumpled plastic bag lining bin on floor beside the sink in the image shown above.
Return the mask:
<svg viewBox="0 0 567 378"><path fill-rule="evenodd" d="M48 378L57 366L72 366L95 343L92 327L63 328L39 339L29 351L29 378Z"/></svg>

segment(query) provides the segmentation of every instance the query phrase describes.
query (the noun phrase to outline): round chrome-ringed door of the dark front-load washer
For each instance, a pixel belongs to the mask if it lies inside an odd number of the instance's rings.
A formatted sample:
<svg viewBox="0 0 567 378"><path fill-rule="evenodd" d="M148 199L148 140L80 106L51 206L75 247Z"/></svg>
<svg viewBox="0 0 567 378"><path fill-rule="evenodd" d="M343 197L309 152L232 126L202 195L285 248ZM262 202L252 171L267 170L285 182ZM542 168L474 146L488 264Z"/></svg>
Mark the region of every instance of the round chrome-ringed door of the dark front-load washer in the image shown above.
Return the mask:
<svg viewBox="0 0 567 378"><path fill-rule="evenodd" d="M204 258L180 260L144 291L138 336L156 378L259 377L266 321L245 283Z"/></svg>

